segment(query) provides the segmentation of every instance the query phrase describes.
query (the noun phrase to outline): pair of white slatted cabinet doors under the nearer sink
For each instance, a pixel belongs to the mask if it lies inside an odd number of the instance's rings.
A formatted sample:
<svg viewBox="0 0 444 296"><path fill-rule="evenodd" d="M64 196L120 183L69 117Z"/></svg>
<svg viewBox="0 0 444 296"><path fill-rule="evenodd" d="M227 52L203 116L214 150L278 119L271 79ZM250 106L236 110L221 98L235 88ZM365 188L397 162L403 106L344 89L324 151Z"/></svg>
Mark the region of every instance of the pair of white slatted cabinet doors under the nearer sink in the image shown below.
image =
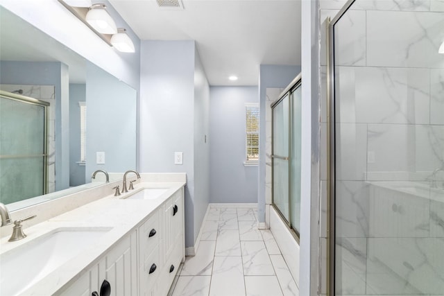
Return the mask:
<svg viewBox="0 0 444 296"><path fill-rule="evenodd" d="M57 295L91 296L100 289L103 281L110 284L112 296L137 294L137 233L134 231L112 247L67 290Z"/></svg>

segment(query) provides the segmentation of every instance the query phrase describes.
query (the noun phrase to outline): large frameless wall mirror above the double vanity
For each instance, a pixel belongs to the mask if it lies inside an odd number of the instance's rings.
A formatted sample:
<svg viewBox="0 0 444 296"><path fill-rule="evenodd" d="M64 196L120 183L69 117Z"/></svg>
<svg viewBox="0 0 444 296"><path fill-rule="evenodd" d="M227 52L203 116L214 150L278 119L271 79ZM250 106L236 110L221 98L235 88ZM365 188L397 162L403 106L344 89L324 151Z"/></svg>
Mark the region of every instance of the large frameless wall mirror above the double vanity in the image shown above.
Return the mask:
<svg viewBox="0 0 444 296"><path fill-rule="evenodd" d="M24 186L31 173L24 166L6 166L7 157L0 151L0 177L8 181L0 180L0 202L14 211L103 184L91 184L96 170L119 173L136 168L135 89L2 7L0 40L0 89L50 103L48 194L14 196L14 188ZM82 106L86 116L81 115ZM19 185L3 186L10 180Z"/></svg>

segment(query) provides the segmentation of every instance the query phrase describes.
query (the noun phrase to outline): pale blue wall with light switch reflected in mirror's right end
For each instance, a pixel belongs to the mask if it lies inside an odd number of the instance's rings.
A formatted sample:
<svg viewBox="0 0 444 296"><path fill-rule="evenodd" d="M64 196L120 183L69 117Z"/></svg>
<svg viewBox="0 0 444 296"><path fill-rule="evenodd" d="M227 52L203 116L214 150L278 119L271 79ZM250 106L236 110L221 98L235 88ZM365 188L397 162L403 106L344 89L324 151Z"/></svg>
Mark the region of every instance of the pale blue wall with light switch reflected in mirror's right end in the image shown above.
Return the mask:
<svg viewBox="0 0 444 296"><path fill-rule="evenodd" d="M137 92L94 64L86 67L86 170L118 173L136 169ZM105 164L96 164L105 152Z"/></svg>

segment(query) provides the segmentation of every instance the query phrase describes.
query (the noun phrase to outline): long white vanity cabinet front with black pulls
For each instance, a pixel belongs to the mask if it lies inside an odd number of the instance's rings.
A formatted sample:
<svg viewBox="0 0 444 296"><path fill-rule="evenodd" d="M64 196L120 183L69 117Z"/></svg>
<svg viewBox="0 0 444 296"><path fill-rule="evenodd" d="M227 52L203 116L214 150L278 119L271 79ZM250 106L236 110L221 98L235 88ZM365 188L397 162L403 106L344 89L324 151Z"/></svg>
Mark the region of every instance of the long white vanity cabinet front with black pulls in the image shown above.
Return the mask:
<svg viewBox="0 0 444 296"><path fill-rule="evenodd" d="M184 189L181 187L121 239L98 263L56 295L100 295L103 280L111 296L167 295L185 259Z"/></svg>

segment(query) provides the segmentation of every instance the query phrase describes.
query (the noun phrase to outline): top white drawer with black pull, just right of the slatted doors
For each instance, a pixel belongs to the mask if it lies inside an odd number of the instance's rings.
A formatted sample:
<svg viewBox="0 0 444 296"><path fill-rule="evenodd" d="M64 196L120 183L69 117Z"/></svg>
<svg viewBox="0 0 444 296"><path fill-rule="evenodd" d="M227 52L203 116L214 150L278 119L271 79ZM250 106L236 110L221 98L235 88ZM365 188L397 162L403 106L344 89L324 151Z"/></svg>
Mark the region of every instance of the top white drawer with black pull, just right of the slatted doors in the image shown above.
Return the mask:
<svg viewBox="0 0 444 296"><path fill-rule="evenodd" d="M144 262L151 255L155 247L159 245L161 229L159 223L159 211L139 227L140 259Z"/></svg>

